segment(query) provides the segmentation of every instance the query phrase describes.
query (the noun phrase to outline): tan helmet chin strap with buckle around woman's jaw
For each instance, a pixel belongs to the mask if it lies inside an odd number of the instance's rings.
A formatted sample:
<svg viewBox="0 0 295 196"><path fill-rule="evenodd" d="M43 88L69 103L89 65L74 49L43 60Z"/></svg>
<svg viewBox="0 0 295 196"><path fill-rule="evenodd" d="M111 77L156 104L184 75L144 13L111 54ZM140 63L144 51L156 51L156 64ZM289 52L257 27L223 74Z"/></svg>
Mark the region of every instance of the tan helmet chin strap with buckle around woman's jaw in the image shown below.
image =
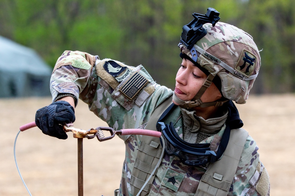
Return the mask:
<svg viewBox="0 0 295 196"><path fill-rule="evenodd" d="M204 81L203 86L201 86L200 90L194 96L194 98L192 100L190 100L190 101L182 100L182 99L178 98L175 93L173 93L173 100L179 104L179 107L186 108L186 109L194 108L194 107L205 108L205 107L209 107L209 106L215 106L215 107L222 106L223 103L227 102L228 100L212 101L212 102L207 102L207 103L203 103L201 101L201 96L204 94L204 92L207 90L207 88L209 88L209 86L212 84L214 77L215 76L212 74L209 74L207 76L207 79Z"/></svg>

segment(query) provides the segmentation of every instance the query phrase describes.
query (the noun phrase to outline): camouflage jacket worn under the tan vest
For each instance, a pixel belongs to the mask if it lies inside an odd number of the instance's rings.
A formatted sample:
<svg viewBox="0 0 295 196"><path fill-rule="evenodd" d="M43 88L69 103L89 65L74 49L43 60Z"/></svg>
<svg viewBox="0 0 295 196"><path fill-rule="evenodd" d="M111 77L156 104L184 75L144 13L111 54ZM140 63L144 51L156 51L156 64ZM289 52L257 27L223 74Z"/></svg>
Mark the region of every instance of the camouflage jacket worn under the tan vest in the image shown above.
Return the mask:
<svg viewBox="0 0 295 196"><path fill-rule="evenodd" d="M58 59L50 81L53 101L71 95L89 105L95 113L115 130L144 128L153 110L173 91L160 86L143 66L131 67L111 59L99 60L98 56L79 51L65 51ZM182 118L178 111L169 114L177 119L174 127L182 135ZM171 122L171 119L165 119ZM177 115L177 118L175 118ZM211 150L218 148L224 128L206 138ZM122 169L120 195L133 195L130 186L132 168L141 145L140 135L120 136L126 145L126 157ZM242 152L230 191L231 195L269 195L268 173L259 160L258 147L250 136ZM206 167L183 165L175 156L164 155L148 195L195 195ZM178 175L174 185L170 176Z"/></svg>

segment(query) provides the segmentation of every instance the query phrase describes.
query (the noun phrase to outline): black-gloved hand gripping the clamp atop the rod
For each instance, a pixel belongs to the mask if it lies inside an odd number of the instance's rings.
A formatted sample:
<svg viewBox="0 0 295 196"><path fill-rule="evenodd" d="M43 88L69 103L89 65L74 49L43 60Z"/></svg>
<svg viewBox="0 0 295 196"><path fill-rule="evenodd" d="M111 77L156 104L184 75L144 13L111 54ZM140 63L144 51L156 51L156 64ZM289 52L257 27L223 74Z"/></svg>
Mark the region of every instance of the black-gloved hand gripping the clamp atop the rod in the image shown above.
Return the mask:
<svg viewBox="0 0 295 196"><path fill-rule="evenodd" d="M56 101L37 110L35 115L35 123L44 134L63 140L67 139L68 135L61 124L74 121L75 110L66 101Z"/></svg>

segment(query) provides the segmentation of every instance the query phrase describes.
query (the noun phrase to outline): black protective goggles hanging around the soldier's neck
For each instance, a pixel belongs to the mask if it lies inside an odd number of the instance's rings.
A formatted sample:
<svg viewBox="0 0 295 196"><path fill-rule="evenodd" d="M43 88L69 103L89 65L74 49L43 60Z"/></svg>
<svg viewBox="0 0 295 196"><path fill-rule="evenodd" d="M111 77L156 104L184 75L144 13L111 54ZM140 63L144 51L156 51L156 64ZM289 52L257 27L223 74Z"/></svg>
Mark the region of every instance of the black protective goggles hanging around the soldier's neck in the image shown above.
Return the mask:
<svg viewBox="0 0 295 196"><path fill-rule="evenodd" d="M188 143L178 136L172 122L169 124L160 122L173 107L176 107L176 105L172 104L165 110L156 125L157 130L162 132L164 138L165 153L169 156L176 155L184 165L189 166L200 166L218 160L227 146L230 129L225 129L216 154L210 150L210 143Z"/></svg>

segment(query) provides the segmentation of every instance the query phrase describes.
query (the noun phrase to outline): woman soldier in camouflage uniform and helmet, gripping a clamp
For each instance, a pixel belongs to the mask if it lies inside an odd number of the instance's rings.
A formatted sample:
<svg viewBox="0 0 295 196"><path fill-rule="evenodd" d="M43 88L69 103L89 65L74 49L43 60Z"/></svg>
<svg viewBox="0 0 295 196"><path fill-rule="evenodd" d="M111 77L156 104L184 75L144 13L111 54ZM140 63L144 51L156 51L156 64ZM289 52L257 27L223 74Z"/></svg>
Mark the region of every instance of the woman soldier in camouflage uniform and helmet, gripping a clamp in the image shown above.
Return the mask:
<svg viewBox="0 0 295 196"><path fill-rule="evenodd" d="M118 195L269 195L258 147L232 102L248 99L259 51L248 33L217 22L218 15L209 8L183 26L174 92L141 65L65 51L51 77L53 103L37 110L37 126L66 139L60 124L75 120L78 98L115 130L157 126L161 140L120 136L126 157Z"/></svg>

